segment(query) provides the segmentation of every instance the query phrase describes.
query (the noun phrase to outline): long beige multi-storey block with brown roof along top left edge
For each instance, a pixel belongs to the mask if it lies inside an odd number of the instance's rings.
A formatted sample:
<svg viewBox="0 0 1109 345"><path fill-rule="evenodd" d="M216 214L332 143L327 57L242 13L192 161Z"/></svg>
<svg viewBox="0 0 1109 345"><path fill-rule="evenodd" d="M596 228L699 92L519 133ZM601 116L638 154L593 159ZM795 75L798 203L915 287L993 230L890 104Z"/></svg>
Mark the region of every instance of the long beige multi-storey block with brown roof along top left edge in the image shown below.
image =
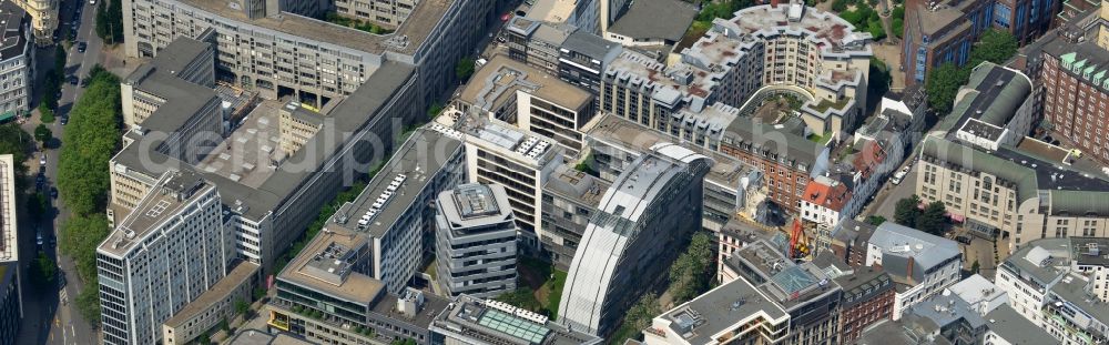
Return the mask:
<svg viewBox="0 0 1109 345"><path fill-rule="evenodd" d="M409 104L423 110L454 85L455 62L472 53L492 2L136 0L123 9L124 51L154 57L179 37L211 30L221 79L264 99L288 97L315 108L354 94L391 61L417 70L418 94ZM396 30L374 34L313 19L333 6L346 9L340 16L373 16Z"/></svg>

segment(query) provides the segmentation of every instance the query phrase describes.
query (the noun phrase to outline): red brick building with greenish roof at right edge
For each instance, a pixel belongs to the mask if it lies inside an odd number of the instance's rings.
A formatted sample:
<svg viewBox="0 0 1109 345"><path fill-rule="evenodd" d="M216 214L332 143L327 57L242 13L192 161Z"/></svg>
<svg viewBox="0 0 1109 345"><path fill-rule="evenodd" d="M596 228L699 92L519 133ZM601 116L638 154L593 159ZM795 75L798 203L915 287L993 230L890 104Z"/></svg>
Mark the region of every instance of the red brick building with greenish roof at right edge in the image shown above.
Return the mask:
<svg viewBox="0 0 1109 345"><path fill-rule="evenodd" d="M1091 41L1048 42L1040 81L1044 119L1062 146L1109 164L1109 51Z"/></svg>

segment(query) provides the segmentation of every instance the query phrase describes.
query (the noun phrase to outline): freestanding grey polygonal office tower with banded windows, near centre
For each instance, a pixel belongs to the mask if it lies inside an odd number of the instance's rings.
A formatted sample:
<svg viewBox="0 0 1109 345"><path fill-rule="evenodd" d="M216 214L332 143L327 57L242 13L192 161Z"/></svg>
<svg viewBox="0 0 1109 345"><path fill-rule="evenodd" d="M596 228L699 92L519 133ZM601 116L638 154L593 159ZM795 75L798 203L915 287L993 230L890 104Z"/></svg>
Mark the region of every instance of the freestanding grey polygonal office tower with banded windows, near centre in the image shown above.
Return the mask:
<svg viewBox="0 0 1109 345"><path fill-rule="evenodd" d="M447 294L496 297L516 290L516 222L505 187L462 184L436 202L436 272Z"/></svg>

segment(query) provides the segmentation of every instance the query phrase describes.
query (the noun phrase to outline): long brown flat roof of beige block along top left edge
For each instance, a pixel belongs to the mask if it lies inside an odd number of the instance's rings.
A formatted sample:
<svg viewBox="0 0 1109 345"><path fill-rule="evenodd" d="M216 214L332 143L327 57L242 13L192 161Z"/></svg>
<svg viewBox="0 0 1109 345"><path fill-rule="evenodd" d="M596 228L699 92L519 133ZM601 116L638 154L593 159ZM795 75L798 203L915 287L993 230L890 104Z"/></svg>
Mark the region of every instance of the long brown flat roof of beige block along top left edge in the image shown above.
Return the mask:
<svg viewBox="0 0 1109 345"><path fill-rule="evenodd" d="M288 12L282 12L278 18L251 19L242 10L231 8L231 2L224 0L176 1L247 26L303 37L317 42L328 42L374 54L381 54L385 51L411 54L424 44L431 30L456 0L419 1L408 18L390 34L373 34Z"/></svg>

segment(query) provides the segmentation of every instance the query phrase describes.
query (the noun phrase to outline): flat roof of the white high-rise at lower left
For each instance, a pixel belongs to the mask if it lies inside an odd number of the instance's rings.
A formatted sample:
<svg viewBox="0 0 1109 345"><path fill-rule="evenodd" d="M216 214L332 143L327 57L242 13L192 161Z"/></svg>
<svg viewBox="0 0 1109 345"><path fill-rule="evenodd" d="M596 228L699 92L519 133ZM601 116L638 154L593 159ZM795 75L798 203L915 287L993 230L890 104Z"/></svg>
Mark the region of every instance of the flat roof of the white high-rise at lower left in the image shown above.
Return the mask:
<svg viewBox="0 0 1109 345"><path fill-rule="evenodd" d="M115 224L115 230L100 244L98 251L113 254L118 257L126 255L131 248L159 229L161 224L176 221L176 214L196 201L215 185L202 176L187 171L169 172L162 176L135 205L122 222Z"/></svg>

